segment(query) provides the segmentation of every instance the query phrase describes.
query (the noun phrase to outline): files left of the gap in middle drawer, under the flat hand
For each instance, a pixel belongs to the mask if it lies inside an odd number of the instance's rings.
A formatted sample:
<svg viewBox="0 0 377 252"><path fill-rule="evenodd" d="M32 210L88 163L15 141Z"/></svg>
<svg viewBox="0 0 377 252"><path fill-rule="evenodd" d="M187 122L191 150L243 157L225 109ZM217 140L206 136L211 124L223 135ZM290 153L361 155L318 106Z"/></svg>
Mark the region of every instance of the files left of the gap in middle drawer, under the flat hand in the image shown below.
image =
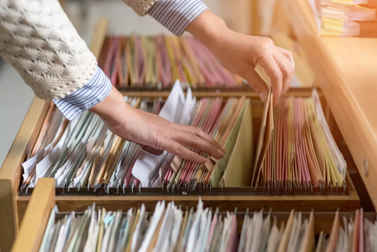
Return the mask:
<svg viewBox="0 0 377 252"><path fill-rule="evenodd" d="M161 98L125 99L133 107L166 120L201 128L226 149L225 157L217 160L192 149L207 158L206 164L199 165L167 152L154 155L112 134L97 115L84 112L69 122L51 103L35 146L22 164L21 189L35 187L38 179L44 177L55 178L56 187L105 187L106 191L110 187L250 183L253 138L249 99L196 101L190 88L185 96L179 81L164 103Z"/></svg>

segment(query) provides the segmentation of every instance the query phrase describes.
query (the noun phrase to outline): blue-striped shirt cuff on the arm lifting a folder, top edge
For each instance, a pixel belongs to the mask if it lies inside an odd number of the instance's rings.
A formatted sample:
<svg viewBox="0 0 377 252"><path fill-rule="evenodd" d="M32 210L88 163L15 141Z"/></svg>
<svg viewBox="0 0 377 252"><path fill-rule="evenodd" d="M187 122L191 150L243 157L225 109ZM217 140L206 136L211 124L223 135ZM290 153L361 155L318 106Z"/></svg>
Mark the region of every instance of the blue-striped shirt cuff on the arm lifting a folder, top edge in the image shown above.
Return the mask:
<svg viewBox="0 0 377 252"><path fill-rule="evenodd" d="M148 10L148 14L180 36L186 27L207 9L207 5L201 0L158 0Z"/></svg>

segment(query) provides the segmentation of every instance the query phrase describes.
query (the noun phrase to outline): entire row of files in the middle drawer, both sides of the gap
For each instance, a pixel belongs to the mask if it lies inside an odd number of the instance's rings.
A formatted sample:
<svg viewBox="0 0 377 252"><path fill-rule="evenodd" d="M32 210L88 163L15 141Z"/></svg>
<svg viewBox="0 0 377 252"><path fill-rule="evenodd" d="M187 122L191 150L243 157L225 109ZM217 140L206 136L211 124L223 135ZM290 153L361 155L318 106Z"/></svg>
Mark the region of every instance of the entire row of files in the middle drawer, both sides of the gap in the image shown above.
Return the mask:
<svg viewBox="0 0 377 252"><path fill-rule="evenodd" d="M275 107L272 95L264 105L245 97L196 100L190 89L185 95L177 81L166 101L125 97L135 108L198 127L218 141L226 149L219 160L191 149L207 158L205 164L166 151L151 154L112 134L97 115L84 112L67 121L51 104L37 141L22 163L21 191L35 187L44 177L55 178L56 187L104 188L107 193L110 188L119 193L129 187L308 191L345 187L346 163L317 91L313 89L307 98L282 98ZM261 105L261 118L252 116L253 104Z"/></svg>

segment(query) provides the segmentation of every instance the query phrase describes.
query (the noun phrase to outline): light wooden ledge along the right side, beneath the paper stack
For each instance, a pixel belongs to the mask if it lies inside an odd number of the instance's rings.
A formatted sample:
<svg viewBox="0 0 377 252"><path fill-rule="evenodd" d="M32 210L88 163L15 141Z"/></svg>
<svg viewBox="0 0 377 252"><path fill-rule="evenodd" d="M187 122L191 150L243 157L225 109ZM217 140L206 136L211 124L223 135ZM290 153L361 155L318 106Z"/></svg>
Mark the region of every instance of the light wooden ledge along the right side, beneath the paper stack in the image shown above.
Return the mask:
<svg viewBox="0 0 377 252"><path fill-rule="evenodd" d="M308 1L287 0L279 4L275 17L279 13L280 26L276 29L294 38L305 51L316 82L356 163L365 194L369 194L376 208L377 39L320 37Z"/></svg>

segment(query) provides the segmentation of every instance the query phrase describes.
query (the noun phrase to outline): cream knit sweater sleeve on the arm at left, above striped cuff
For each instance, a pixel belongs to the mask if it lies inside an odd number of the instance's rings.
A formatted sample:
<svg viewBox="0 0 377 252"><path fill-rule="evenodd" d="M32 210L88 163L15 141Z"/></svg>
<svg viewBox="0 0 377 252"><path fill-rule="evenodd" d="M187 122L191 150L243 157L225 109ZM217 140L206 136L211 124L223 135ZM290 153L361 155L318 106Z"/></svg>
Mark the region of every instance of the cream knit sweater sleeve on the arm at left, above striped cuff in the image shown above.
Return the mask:
<svg viewBox="0 0 377 252"><path fill-rule="evenodd" d="M0 0L0 55L43 99L77 91L97 69L58 0Z"/></svg>

